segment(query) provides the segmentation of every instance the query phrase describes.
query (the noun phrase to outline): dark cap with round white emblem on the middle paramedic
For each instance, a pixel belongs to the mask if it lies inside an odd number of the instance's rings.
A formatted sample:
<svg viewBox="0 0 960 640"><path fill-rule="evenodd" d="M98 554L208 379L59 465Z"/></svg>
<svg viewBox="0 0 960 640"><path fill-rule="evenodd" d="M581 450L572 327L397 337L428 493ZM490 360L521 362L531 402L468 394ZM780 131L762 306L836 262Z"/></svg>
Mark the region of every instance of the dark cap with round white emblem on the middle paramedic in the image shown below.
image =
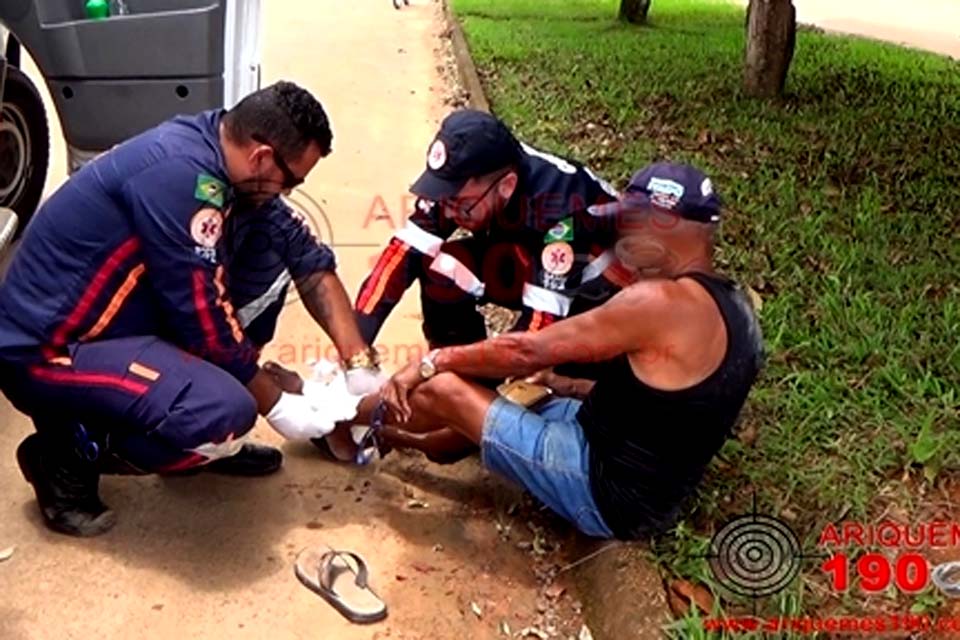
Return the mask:
<svg viewBox="0 0 960 640"><path fill-rule="evenodd" d="M440 125L427 150L427 168L410 187L426 200L456 196L470 178L518 164L520 142L505 124L485 111L454 111Z"/></svg>

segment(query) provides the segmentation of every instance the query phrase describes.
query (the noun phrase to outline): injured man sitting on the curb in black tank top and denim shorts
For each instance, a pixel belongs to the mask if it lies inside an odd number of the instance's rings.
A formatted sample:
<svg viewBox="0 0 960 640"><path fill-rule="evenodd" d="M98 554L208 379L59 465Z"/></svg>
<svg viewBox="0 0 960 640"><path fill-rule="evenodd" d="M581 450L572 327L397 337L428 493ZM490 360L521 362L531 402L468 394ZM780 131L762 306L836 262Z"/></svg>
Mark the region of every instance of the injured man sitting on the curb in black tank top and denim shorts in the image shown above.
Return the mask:
<svg viewBox="0 0 960 640"><path fill-rule="evenodd" d="M631 539L674 522L730 435L763 345L749 299L714 271L720 200L700 171L651 165L594 213L617 219L631 284L542 331L431 352L361 414L385 401L388 441L445 425L583 533ZM473 382L587 361L600 375L582 401L554 396L530 409Z"/></svg>

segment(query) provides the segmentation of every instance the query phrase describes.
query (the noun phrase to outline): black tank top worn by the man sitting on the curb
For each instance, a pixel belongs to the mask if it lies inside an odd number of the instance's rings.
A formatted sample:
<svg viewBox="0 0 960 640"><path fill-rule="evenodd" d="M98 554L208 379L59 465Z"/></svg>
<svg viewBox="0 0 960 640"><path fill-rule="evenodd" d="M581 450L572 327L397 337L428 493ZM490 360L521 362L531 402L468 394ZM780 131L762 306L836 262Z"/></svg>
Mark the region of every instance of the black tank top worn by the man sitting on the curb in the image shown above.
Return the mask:
<svg viewBox="0 0 960 640"><path fill-rule="evenodd" d="M732 281L688 273L716 301L727 351L703 382L660 391L637 379L626 354L602 363L577 413L590 443L590 482L600 514L616 537L668 528L730 435L763 360L753 308Z"/></svg>

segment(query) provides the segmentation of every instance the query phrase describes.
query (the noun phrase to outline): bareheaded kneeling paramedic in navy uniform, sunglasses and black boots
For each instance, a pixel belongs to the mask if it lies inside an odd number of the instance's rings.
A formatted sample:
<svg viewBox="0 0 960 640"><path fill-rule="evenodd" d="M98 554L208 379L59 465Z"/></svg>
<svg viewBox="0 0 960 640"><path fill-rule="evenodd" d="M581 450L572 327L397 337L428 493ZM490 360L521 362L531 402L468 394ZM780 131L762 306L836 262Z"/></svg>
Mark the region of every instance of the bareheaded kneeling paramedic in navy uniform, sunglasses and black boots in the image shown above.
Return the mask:
<svg viewBox="0 0 960 640"><path fill-rule="evenodd" d="M0 285L0 388L35 425L17 460L48 527L113 526L102 473L277 470L241 440L258 414L287 438L332 429L258 366L291 280L354 387L377 388L333 253L280 199L331 140L280 82L128 140L38 211Z"/></svg>

